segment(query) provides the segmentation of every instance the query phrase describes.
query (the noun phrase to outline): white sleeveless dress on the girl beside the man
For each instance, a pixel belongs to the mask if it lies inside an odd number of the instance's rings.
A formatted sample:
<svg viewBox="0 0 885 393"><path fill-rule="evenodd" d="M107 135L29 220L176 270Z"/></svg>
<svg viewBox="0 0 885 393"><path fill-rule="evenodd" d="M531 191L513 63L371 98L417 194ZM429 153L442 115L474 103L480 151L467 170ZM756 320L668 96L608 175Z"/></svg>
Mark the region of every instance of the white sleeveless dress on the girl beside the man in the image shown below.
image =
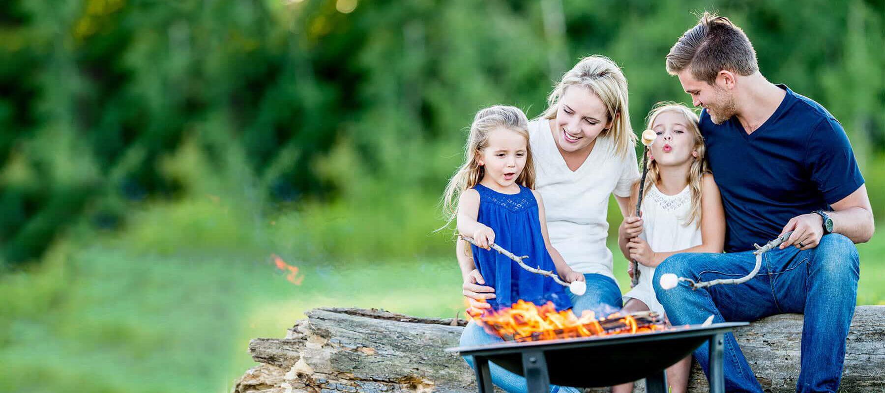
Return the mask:
<svg viewBox="0 0 885 393"><path fill-rule="evenodd" d="M679 194L670 196L662 193L654 184L643 198L643 235L655 252L685 250L702 243L701 227L695 222L687 222L691 215L691 191L686 186ZM639 283L630 289L624 298L642 300L649 309L664 315L664 306L658 302L651 279L655 268L639 264Z"/></svg>

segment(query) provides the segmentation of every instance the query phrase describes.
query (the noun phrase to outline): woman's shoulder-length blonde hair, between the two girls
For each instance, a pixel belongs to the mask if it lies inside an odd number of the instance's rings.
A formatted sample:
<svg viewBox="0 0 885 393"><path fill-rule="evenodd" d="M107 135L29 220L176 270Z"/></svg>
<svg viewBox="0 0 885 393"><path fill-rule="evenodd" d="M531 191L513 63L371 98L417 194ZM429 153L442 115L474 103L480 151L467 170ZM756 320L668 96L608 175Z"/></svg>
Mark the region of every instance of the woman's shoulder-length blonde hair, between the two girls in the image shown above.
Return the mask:
<svg viewBox="0 0 885 393"><path fill-rule="evenodd" d="M559 98L566 89L578 86L589 89L605 104L608 119L612 127L605 129L598 137L612 138L615 154L627 157L630 149L634 149L636 135L630 127L630 111L627 97L627 77L612 59L593 55L581 58L578 64L568 70L547 97L547 110L540 116L543 119L556 119Z"/></svg>

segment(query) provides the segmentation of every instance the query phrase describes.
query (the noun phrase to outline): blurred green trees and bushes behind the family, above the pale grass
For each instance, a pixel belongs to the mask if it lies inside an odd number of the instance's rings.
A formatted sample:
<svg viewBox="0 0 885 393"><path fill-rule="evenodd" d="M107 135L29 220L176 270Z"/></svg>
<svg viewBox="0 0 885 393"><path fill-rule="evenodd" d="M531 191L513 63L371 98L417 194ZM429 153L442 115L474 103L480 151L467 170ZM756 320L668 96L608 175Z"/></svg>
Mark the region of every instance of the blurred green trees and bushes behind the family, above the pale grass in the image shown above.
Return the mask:
<svg viewBox="0 0 885 393"><path fill-rule="evenodd" d="M35 258L78 222L119 229L135 205L207 192L191 181L225 199L233 189L248 214L304 210L296 226L333 254L435 251L429 203L473 112L505 103L535 116L560 73L600 53L624 67L639 128L651 104L686 101L663 57L703 9L745 29L769 79L826 105L868 178L881 177L880 2L550 4L561 17L504 1L350 13L329 0L6 2L0 254ZM166 168L196 150L198 179ZM364 230L378 235L346 235Z"/></svg>

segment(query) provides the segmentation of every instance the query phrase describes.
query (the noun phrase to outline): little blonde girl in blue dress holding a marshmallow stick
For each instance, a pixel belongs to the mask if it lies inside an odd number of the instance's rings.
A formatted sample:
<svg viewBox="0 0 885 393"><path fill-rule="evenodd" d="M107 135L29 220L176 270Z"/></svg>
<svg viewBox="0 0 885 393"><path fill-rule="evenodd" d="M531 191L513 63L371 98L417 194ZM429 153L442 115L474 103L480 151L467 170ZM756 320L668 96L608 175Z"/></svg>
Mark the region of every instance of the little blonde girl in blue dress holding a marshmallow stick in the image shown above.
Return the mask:
<svg viewBox="0 0 885 393"><path fill-rule="evenodd" d="M572 306L565 287L550 277L533 274L510 258L491 250L496 243L522 256L528 266L551 270L566 282L584 281L584 275L566 265L550 245L544 205L535 186L535 166L528 144L528 119L518 108L496 105L476 113L466 144L465 163L451 178L443 196L449 222L456 220L458 234L473 238L473 258L461 263L465 281L472 278L495 289L488 299L493 310L518 300L544 304L557 310ZM458 201L455 203L455 201ZM475 304L472 304L475 305ZM482 304L477 308L489 308ZM481 340L477 340L481 335ZM462 334L470 343L502 341L471 321ZM471 358L466 358L473 366ZM526 390L525 379L491 365L492 381L509 392ZM553 387L553 389L560 389Z"/></svg>

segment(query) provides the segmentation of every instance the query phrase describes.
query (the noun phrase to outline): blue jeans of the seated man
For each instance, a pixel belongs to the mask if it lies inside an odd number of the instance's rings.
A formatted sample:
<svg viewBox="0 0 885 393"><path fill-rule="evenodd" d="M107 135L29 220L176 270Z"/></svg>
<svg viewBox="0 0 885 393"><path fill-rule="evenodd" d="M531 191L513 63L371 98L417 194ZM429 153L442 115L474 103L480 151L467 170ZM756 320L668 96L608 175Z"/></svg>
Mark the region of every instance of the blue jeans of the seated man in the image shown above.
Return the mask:
<svg viewBox="0 0 885 393"><path fill-rule="evenodd" d="M695 281L738 278L756 265L752 251L727 254L685 253L666 258L655 269L654 287L674 326L713 322L752 321L785 312L804 313L802 371L799 392L835 392L842 379L845 339L858 297L858 249L838 234L824 235L811 250L790 246L763 254L762 266L752 280L737 285L716 285L692 290L685 282L673 289L660 288L660 277L672 273ZM708 344L695 358L709 377ZM761 392L735 336L725 340L725 388L729 392Z"/></svg>

